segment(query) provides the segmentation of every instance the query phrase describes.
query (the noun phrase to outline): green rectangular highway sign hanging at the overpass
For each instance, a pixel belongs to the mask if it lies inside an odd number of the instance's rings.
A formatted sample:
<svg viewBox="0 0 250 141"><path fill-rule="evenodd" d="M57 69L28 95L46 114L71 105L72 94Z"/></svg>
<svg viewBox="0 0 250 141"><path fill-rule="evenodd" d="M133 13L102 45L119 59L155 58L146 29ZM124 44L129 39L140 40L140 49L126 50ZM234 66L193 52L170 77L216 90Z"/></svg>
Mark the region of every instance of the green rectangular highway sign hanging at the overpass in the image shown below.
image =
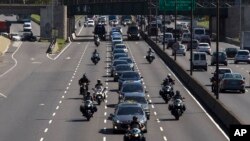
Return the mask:
<svg viewBox="0 0 250 141"><path fill-rule="evenodd" d="M176 9L175 9L175 4ZM195 9L195 0L159 0L159 10L160 11L190 11L191 4L193 4L193 9Z"/></svg>

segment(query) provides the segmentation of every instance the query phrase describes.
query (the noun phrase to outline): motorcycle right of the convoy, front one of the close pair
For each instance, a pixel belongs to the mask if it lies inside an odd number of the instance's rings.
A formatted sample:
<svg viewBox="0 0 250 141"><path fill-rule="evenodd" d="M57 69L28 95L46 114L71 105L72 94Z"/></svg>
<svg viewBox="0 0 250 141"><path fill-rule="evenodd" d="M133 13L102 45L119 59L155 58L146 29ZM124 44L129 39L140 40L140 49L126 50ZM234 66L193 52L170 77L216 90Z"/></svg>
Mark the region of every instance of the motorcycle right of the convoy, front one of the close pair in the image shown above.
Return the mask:
<svg viewBox="0 0 250 141"><path fill-rule="evenodd" d="M172 104L169 104L168 109L171 111L171 114L175 119L179 120L180 116L186 110L186 106L181 99L175 99Z"/></svg>

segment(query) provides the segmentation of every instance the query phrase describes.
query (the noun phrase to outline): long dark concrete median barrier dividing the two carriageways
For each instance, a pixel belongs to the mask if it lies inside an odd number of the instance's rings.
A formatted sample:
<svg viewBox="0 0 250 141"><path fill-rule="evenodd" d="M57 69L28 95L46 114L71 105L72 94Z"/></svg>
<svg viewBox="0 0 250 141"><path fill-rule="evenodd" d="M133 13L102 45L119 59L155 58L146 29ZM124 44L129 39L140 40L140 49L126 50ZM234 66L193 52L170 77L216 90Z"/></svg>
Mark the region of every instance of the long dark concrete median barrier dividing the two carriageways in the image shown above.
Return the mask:
<svg viewBox="0 0 250 141"><path fill-rule="evenodd" d="M154 49L165 64L175 73L179 80L188 88L188 90L200 101L206 110L222 125L226 133L229 133L231 124L241 124L237 117L228 111L219 100L216 100L212 93L208 92L202 84L191 77L184 68L177 64L146 34L141 33L143 39Z"/></svg>

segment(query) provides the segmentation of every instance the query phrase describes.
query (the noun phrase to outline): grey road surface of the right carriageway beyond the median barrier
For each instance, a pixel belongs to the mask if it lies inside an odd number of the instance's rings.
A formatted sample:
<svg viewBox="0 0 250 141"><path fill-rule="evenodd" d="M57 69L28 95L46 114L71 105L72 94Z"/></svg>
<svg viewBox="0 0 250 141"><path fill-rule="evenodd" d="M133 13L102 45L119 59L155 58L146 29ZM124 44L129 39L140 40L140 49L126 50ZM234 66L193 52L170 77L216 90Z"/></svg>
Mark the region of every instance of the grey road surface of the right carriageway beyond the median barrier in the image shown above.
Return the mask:
<svg viewBox="0 0 250 141"><path fill-rule="evenodd" d="M162 47L162 45L159 43L159 45ZM236 47L231 44L219 43L219 50L223 51L227 47ZM212 52L216 50L216 44L215 42L212 42L211 44L211 49ZM238 48L239 49L239 48ZM171 49L167 49L166 53L168 55L172 54ZM174 56L172 56L174 59ZM187 70L188 73L190 73L190 52L187 51L186 56L182 55L177 55L177 62L180 64L185 70ZM208 91L211 92L211 82L210 78L213 76L213 72L215 71L216 67L211 66L211 56L207 55L207 60L208 60L208 71L193 71L193 78L195 78L197 81L199 81L204 87L207 88ZM234 113L234 115L244 124L249 124L250 119L248 118L250 116L248 107L250 105L250 89L249 89L249 81L250 81L250 65L247 63L239 63L239 64L234 64L233 59L228 60L228 66L223 66L220 65L219 67L228 67L231 68L233 72L238 72L242 74L242 76L245 77L245 82L246 82L246 93L235 93L235 92L226 92L226 93L220 93L219 99L223 104L227 107L227 109L231 112Z"/></svg>

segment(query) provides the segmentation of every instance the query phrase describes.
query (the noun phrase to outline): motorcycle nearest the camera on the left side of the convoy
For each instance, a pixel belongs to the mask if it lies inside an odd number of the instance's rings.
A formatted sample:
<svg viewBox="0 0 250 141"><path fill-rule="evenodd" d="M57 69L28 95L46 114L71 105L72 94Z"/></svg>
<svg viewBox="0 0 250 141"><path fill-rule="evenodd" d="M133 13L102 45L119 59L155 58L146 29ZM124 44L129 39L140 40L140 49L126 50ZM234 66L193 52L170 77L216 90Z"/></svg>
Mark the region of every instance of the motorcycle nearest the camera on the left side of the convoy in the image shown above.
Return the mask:
<svg viewBox="0 0 250 141"><path fill-rule="evenodd" d="M94 112L97 112L96 106L93 104L93 101L86 100L84 104L80 106L80 111L82 115L87 118L89 121L91 117L93 117Z"/></svg>

